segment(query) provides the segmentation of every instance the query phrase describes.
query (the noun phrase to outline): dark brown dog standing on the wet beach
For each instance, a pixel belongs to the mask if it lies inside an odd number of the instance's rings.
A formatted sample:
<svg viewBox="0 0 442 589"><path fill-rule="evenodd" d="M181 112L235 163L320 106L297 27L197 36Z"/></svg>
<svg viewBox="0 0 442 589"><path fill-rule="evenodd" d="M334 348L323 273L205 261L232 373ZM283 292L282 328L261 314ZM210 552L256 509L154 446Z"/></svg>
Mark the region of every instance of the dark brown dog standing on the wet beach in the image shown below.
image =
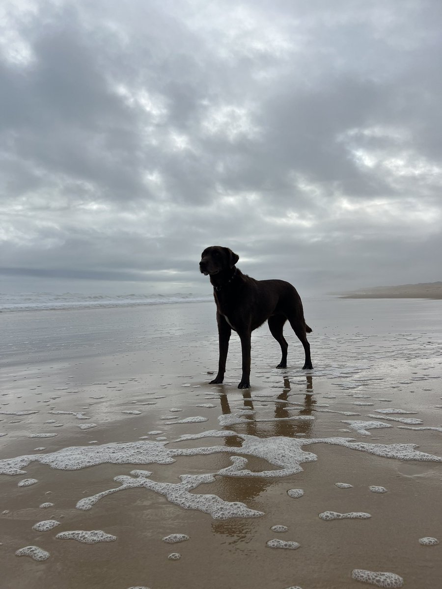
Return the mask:
<svg viewBox="0 0 442 589"><path fill-rule="evenodd" d="M228 247L206 247L201 255L200 272L209 274L216 303L219 336L219 363L216 378L210 384L220 384L226 372L229 339L234 329L241 340L242 378L239 389L250 387L250 336L253 329L268 320L272 336L281 346L282 358L276 368L286 368L288 343L282 328L289 320L305 351L302 369L313 368L306 333L301 297L292 284L284 280L255 280L243 274L235 264L239 256Z"/></svg>

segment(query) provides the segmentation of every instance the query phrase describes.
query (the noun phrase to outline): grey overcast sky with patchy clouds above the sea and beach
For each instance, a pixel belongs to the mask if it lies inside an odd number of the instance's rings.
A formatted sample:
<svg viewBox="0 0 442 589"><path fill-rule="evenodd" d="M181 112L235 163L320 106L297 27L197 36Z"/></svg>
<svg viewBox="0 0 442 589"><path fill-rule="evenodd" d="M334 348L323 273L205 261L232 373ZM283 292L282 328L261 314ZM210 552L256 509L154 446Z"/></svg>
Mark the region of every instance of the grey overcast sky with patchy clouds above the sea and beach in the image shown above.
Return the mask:
<svg viewBox="0 0 442 589"><path fill-rule="evenodd" d="M439 0L0 12L0 292L442 279Z"/></svg>

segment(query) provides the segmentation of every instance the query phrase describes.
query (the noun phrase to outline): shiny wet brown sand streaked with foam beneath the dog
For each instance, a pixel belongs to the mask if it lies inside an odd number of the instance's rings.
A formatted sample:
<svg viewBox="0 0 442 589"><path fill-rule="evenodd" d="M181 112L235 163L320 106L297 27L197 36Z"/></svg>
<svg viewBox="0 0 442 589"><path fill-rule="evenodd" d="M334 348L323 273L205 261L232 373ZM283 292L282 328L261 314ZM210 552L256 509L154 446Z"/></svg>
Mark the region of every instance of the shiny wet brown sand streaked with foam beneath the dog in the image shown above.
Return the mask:
<svg viewBox="0 0 442 589"><path fill-rule="evenodd" d="M340 589L370 587L351 577L365 569L439 587L440 303L312 300L305 315L314 370L288 327L289 368L273 368L263 326L243 392L235 334L209 384L213 303L2 315L0 586ZM56 537L79 530L116 539ZM29 545L50 556L15 555Z"/></svg>

